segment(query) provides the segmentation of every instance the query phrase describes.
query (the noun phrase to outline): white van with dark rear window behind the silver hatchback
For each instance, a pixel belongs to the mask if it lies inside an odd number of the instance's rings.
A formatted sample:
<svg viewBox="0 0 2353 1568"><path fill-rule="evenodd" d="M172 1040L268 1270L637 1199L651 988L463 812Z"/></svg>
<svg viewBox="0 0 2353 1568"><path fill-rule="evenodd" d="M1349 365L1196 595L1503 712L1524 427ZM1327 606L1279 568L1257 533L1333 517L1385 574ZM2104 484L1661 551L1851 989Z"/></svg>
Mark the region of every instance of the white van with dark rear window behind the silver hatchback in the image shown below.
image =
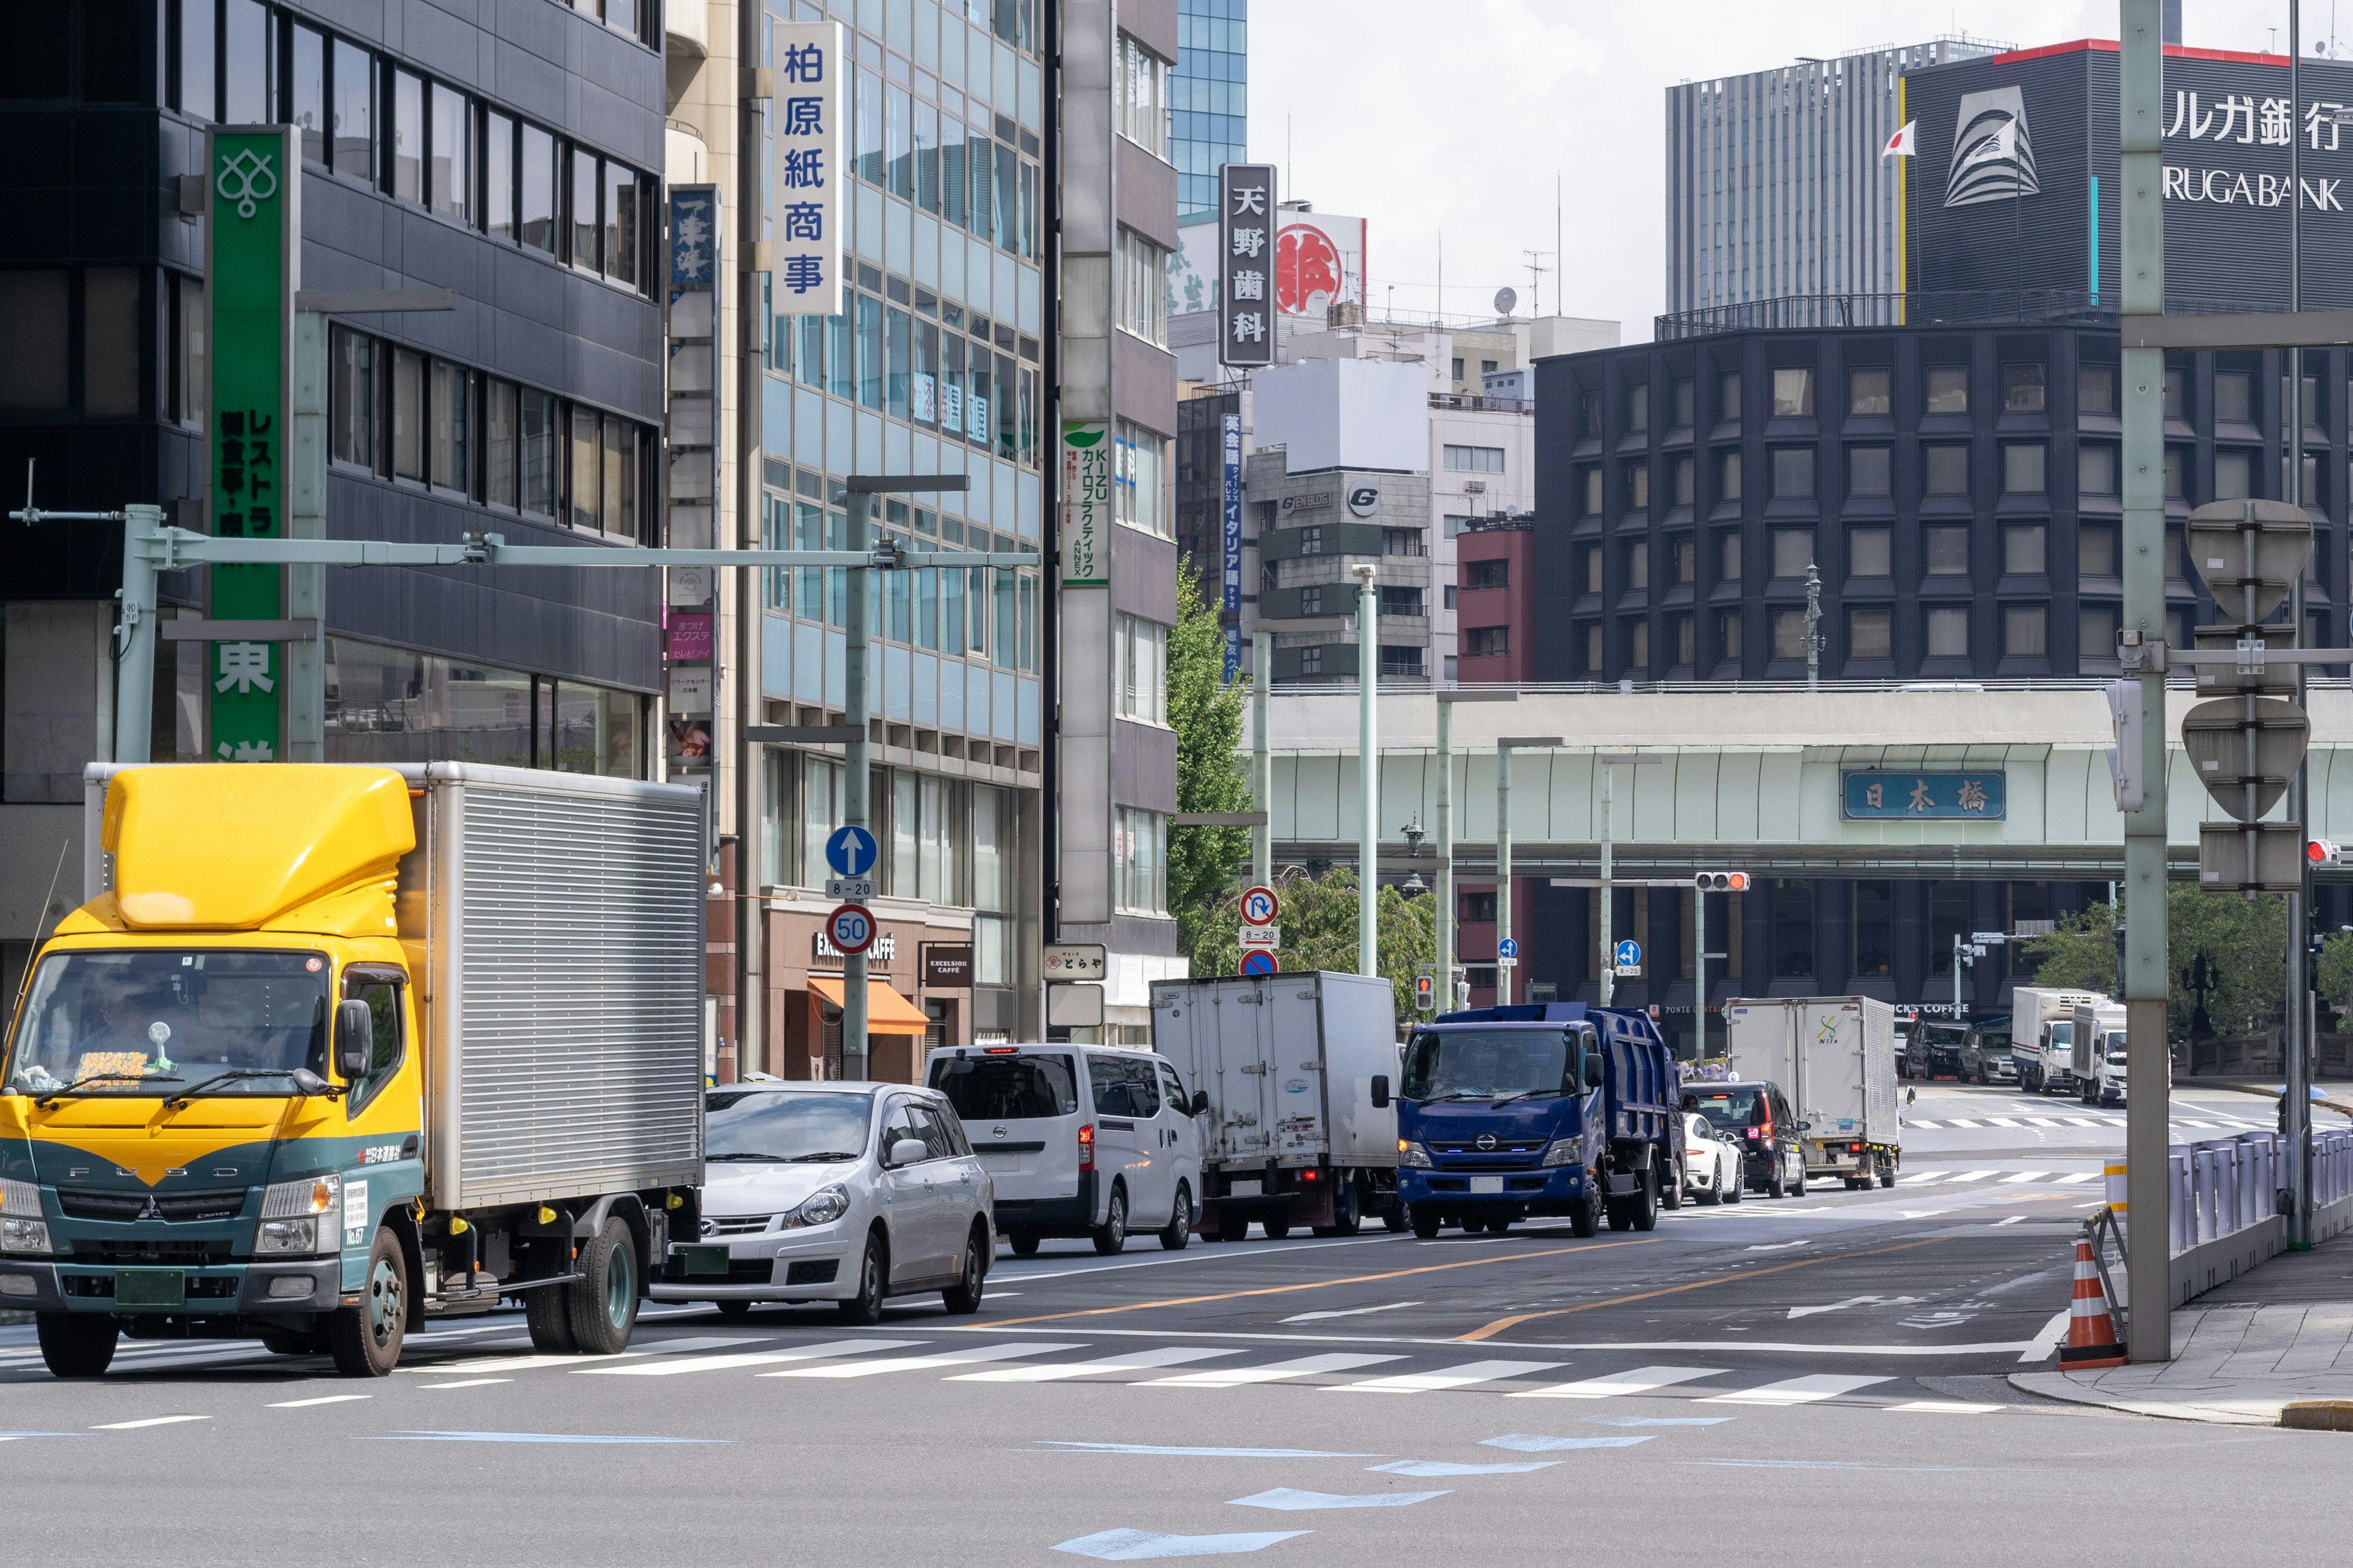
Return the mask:
<svg viewBox="0 0 2353 1568"><path fill-rule="evenodd" d="M1016 1255L1045 1237L1087 1237L1099 1253L1136 1229L1172 1253L1193 1239L1205 1100L1167 1060L1118 1046L941 1046L925 1084L962 1119Z"/></svg>

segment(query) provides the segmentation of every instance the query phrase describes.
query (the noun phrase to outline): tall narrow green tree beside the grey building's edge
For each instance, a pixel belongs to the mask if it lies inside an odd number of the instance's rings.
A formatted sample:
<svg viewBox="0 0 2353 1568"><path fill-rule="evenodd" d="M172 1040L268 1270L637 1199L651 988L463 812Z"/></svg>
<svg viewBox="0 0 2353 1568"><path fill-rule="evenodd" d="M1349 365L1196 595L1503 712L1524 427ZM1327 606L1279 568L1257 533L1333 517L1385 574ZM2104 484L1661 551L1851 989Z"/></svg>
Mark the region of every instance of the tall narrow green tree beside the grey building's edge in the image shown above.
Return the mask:
<svg viewBox="0 0 2353 1568"><path fill-rule="evenodd" d="M1193 557L1176 562L1167 698L1169 729L1176 731L1176 809L1249 811L1249 783L1235 764L1235 748L1242 743L1242 684L1226 684L1226 632L1217 623L1217 607L1200 592ZM1235 872L1247 860L1247 827L1169 830L1169 910L1176 914L1176 945L1193 957L1193 973L1217 973L1202 961L1209 905L1235 891Z"/></svg>

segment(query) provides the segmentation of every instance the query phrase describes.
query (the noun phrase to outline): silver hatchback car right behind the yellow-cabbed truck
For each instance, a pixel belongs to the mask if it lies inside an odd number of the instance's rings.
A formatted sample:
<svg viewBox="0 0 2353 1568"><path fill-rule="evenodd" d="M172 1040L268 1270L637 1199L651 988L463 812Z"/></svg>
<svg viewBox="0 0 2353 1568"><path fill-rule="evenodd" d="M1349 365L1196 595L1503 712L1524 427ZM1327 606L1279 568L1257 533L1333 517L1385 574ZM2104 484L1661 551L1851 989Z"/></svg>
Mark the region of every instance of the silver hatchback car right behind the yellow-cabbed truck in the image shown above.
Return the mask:
<svg viewBox="0 0 2353 1568"><path fill-rule="evenodd" d="M927 1291L981 1309L991 1182L944 1095L725 1084L704 1093L704 1166L701 1234L671 1244L654 1300L835 1302L849 1324Z"/></svg>

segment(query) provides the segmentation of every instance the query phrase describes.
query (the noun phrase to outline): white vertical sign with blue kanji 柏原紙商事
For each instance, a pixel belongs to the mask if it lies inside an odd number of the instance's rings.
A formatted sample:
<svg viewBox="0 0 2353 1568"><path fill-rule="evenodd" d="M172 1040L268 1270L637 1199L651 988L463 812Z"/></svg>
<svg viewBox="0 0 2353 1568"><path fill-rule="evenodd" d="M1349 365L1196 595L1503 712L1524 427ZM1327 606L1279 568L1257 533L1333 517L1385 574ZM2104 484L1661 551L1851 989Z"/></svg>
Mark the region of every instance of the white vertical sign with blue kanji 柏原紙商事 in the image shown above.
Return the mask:
<svg viewBox="0 0 2353 1568"><path fill-rule="evenodd" d="M849 54L838 21L769 21L769 233L776 315L842 308ZM758 237L758 235L753 235Z"/></svg>

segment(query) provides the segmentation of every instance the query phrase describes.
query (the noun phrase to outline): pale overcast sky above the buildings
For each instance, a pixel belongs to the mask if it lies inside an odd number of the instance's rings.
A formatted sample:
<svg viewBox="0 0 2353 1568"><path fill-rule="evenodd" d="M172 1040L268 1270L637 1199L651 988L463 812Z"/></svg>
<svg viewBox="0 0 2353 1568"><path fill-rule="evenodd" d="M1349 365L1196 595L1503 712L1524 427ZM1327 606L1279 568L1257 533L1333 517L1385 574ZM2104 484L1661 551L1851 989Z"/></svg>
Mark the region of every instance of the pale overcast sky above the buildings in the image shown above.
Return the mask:
<svg viewBox="0 0 2353 1568"><path fill-rule="evenodd" d="M2306 52L2339 7L2353 35L2353 0L2306 2ZM1249 150L1285 169L1285 200L1367 221L1374 313L1440 308L1445 235L1445 313L1485 313L1511 284L1525 315L1522 252L1555 249L1558 176L1569 256L1537 284L1544 310L1642 341L1666 296L1673 82L1944 33L2115 38L2115 19L2113 0L1252 0ZM2287 2L2186 0L2184 33L2285 52Z"/></svg>

